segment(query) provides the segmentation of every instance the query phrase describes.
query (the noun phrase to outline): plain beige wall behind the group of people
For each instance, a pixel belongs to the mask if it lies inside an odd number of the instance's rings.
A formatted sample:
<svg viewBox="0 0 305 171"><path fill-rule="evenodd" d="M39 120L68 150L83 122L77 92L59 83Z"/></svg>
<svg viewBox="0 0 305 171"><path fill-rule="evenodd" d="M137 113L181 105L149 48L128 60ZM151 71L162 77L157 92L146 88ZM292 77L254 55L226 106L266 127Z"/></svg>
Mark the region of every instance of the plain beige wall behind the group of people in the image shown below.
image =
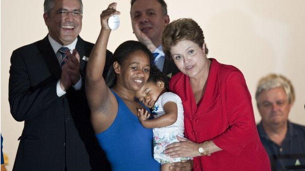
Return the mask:
<svg viewBox="0 0 305 171"><path fill-rule="evenodd" d="M244 74L252 102L257 80L270 73L291 79L296 102L290 120L305 125L305 7L304 0L166 0L171 20L192 17L202 27L209 57L232 64ZM83 0L81 36L95 42L99 14L109 0ZM112 52L126 40L136 40L129 16L129 0L119 0L121 25L113 31L108 49ZM42 0L1 0L1 132L4 152L12 169L23 122L15 121L8 104L8 71L12 51L42 39L47 27L42 18ZM255 118L260 116L254 105Z"/></svg>

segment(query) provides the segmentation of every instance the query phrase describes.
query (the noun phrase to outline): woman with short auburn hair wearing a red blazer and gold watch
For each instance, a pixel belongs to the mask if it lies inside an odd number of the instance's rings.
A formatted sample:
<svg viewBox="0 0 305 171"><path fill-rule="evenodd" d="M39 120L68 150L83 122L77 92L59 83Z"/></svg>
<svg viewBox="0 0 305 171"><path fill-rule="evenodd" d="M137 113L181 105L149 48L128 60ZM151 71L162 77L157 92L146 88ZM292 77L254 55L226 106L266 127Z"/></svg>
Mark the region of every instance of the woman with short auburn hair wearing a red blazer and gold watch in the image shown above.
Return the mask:
<svg viewBox="0 0 305 171"><path fill-rule="evenodd" d="M180 73L170 81L184 107L185 137L171 157L194 157L194 170L271 170L259 139L251 96L240 70L207 59L202 29L192 19L166 26L163 50Z"/></svg>

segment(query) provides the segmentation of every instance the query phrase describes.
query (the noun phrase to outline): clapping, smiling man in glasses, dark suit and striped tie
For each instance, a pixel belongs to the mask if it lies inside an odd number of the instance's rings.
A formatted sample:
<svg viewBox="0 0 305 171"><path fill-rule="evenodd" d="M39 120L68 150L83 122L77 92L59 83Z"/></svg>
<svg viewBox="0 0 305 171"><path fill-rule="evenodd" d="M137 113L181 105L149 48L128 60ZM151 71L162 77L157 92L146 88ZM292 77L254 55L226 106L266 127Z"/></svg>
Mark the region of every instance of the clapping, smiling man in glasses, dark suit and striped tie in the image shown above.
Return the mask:
<svg viewBox="0 0 305 171"><path fill-rule="evenodd" d="M84 90L93 44L78 36L82 12L81 0L45 0L48 35L12 53L10 108L24 121L13 170L110 170Z"/></svg>

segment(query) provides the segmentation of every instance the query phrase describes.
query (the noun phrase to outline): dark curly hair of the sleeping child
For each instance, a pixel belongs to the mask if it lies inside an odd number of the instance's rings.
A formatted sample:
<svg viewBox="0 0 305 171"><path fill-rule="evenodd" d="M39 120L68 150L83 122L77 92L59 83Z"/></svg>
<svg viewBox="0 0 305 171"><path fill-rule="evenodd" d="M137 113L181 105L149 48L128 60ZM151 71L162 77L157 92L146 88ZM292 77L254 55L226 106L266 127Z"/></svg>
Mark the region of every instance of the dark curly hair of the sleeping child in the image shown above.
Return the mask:
<svg viewBox="0 0 305 171"><path fill-rule="evenodd" d="M146 82L152 82L157 84L158 81L164 82L164 88L166 90L169 90L168 77L163 74L156 65L151 65L149 71L149 78Z"/></svg>

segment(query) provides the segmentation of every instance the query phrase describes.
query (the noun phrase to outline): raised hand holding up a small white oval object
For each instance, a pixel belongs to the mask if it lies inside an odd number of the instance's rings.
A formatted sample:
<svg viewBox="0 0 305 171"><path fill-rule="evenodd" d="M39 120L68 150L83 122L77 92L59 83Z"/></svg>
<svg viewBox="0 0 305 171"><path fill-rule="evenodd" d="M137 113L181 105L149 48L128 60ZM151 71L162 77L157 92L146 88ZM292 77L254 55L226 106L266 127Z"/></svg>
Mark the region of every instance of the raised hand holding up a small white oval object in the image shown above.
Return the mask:
<svg viewBox="0 0 305 171"><path fill-rule="evenodd" d="M100 15L101 17L101 26L102 26L102 29L103 30L111 30L108 26L108 18L113 16L113 15L119 15L120 12L118 12L116 10L117 8L117 3L116 2L113 2L111 4L109 4L108 8L106 10L104 10L102 12L102 14Z"/></svg>

